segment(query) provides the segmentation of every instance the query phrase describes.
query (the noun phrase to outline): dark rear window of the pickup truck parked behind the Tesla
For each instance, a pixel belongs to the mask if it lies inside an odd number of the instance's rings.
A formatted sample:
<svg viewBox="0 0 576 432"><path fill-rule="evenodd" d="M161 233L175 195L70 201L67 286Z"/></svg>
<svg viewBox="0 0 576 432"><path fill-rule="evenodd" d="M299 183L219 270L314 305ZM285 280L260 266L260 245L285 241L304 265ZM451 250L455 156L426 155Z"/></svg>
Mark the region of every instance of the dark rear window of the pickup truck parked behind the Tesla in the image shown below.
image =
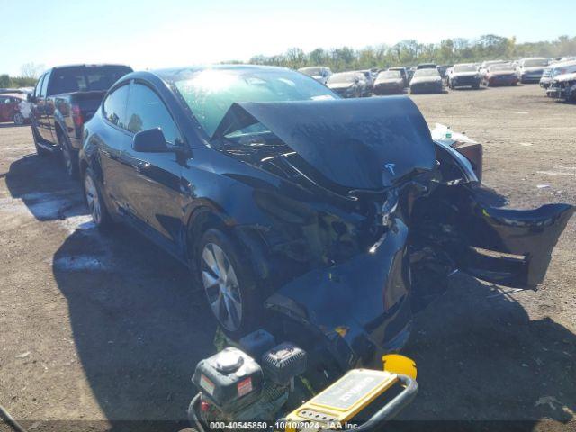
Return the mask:
<svg viewBox="0 0 576 432"><path fill-rule="evenodd" d="M126 66L63 67L54 71L49 94L105 92L130 72Z"/></svg>

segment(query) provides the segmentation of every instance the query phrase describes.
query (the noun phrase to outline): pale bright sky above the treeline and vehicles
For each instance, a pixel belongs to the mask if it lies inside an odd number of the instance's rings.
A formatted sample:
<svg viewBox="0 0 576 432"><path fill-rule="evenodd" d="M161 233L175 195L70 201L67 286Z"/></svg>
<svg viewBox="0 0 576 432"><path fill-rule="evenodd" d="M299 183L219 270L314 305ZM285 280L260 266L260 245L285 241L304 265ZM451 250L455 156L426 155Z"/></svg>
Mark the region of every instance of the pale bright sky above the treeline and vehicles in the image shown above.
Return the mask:
<svg viewBox="0 0 576 432"><path fill-rule="evenodd" d="M446 7L446 4L448 5ZM134 69L482 34L576 35L574 0L0 0L0 74L25 63ZM450 7L453 5L455 7ZM6 19L7 18L7 19Z"/></svg>

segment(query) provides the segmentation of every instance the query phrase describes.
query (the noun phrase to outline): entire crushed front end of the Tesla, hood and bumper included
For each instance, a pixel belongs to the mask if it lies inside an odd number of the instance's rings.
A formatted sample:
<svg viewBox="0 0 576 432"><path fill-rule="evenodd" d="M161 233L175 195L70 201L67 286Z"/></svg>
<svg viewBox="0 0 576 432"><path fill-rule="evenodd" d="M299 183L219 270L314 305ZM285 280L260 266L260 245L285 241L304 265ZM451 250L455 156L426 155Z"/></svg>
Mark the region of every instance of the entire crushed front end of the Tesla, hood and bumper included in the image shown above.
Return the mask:
<svg viewBox="0 0 576 432"><path fill-rule="evenodd" d="M235 103L211 144L260 173L235 175L262 215L237 229L261 245L276 333L323 351L325 374L399 350L455 269L536 286L573 212L486 202L482 159L433 141L406 97Z"/></svg>

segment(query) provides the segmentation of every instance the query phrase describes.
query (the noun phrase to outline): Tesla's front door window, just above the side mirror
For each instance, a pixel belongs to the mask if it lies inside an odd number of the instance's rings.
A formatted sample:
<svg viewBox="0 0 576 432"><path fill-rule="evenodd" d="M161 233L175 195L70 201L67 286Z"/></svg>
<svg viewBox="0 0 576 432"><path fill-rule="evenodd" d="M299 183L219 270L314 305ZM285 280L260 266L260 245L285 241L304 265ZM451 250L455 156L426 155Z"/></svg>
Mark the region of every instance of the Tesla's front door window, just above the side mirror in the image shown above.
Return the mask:
<svg viewBox="0 0 576 432"><path fill-rule="evenodd" d="M176 139L180 139L180 132L166 105L146 85L132 85L126 118L128 130L132 133L160 128L167 142L175 144Z"/></svg>

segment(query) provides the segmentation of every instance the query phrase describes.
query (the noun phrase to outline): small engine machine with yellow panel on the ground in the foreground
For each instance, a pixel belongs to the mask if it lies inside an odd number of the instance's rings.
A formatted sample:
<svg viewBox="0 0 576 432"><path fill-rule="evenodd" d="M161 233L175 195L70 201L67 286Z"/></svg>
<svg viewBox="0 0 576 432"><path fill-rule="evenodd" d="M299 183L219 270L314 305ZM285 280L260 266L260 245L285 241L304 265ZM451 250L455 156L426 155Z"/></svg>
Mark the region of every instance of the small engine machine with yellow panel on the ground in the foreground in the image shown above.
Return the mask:
<svg viewBox="0 0 576 432"><path fill-rule="evenodd" d="M305 378L306 352L290 342L275 345L274 338L259 331L241 339L241 349L224 348L196 365L192 381L199 392L188 416L200 432L229 428L311 432L346 425L365 430L392 418L418 390L413 362L395 356L388 363L397 365L398 373L353 369L302 403L311 395ZM412 376L406 375L411 370Z"/></svg>

